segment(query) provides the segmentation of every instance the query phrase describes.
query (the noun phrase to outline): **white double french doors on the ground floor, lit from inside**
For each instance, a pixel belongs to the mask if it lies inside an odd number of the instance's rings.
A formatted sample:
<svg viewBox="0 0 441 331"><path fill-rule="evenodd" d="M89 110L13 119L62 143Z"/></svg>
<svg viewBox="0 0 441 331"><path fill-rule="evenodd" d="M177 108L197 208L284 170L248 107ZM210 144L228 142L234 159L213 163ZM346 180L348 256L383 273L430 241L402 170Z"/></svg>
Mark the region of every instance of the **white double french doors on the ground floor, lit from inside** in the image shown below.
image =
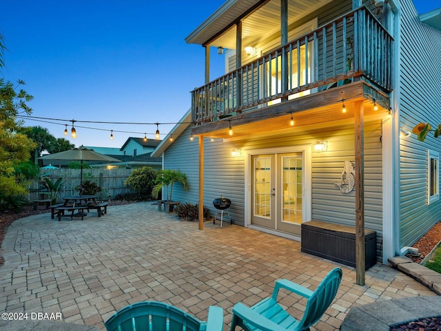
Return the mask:
<svg viewBox="0 0 441 331"><path fill-rule="evenodd" d="M249 157L250 225L300 236L301 223L311 215L309 152Z"/></svg>

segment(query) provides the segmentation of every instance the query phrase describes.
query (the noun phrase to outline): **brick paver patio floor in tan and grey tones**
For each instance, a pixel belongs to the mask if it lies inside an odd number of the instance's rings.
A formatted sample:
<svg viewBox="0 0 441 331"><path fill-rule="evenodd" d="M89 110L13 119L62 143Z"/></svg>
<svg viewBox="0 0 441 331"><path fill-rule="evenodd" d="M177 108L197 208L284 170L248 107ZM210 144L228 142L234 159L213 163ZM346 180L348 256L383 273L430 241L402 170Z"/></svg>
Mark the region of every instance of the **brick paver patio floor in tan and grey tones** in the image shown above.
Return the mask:
<svg viewBox="0 0 441 331"><path fill-rule="evenodd" d="M212 222L205 230L156 205L111 206L101 218L61 222L41 214L15 221L1 254L0 312L61 312L63 322L92 325L137 301L176 305L206 320L209 305L224 308L229 330L232 306L269 296L286 278L313 290L331 268L343 270L336 301L316 330L338 330L349 308L384 299L436 295L424 285L375 265L366 285L353 268L300 252L300 243L255 230ZM305 301L282 295L300 316ZM60 321L54 321L60 323Z"/></svg>

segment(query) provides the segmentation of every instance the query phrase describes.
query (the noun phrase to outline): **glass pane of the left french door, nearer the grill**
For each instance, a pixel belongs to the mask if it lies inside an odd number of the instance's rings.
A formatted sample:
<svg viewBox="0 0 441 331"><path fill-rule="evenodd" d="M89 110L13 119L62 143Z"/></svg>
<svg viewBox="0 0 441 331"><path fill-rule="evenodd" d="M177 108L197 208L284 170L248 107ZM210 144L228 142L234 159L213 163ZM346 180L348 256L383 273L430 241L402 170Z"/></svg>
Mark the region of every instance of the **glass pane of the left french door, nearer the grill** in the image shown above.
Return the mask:
<svg viewBox="0 0 441 331"><path fill-rule="evenodd" d="M254 159L254 216L271 218L271 158Z"/></svg>

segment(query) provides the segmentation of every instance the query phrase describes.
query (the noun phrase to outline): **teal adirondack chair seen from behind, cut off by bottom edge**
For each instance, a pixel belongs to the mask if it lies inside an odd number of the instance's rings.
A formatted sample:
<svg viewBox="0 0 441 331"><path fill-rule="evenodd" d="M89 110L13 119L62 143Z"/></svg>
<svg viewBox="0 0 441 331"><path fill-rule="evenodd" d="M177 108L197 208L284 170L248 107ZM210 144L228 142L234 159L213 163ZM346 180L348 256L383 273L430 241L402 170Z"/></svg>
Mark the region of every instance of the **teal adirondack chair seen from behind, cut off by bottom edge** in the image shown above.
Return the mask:
<svg viewBox="0 0 441 331"><path fill-rule="evenodd" d="M204 322L172 305L141 301L122 308L104 325L107 331L222 331L223 309L210 307Z"/></svg>

